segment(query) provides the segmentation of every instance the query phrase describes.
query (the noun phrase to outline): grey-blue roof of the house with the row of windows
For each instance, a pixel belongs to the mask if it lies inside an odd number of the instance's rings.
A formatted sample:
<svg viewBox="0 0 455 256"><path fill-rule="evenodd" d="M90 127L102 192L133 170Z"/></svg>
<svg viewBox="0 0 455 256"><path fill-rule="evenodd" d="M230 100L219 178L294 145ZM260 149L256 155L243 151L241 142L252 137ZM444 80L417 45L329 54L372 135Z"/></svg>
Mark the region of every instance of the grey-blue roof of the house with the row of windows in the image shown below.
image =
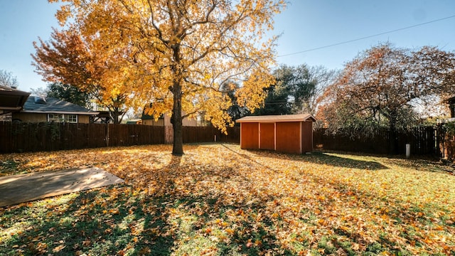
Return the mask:
<svg viewBox="0 0 455 256"><path fill-rule="evenodd" d="M38 96L28 97L23 105L23 111L26 113L46 113L46 114L98 114L99 112L88 110L65 100L58 100L54 97L43 99Z"/></svg>

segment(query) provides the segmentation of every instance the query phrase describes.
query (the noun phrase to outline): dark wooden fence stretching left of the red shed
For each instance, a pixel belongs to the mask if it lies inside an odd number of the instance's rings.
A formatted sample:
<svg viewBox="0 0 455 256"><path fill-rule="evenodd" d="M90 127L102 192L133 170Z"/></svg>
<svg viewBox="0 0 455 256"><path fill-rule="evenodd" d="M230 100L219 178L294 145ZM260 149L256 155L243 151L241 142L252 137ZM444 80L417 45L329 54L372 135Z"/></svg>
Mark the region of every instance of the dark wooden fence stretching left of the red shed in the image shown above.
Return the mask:
<svg viewBox="0 0 455 256"><path fill-rule="evenodd" d="M0 153L164 144L166 131L134 124L0 122ZM239 143L240 128L228 128L226 135L215 127L183 127L184 143L214 142L215 136L217 142Z"/></svg>

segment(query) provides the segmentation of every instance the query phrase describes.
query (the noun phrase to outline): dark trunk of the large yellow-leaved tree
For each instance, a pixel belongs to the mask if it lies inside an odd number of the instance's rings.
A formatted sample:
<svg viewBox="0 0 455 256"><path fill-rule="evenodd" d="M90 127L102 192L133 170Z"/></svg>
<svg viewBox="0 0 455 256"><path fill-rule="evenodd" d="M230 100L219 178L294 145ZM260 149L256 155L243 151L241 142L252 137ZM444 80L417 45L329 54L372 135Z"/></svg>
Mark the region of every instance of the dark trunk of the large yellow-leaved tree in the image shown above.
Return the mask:
<svg viewBox="0 0 455 256"><path fill-rule="evenodd" d="M183 155L183 131L182 131L182 88L179 82L173 84L173 146L172 154L174 156Z"/></svg>

